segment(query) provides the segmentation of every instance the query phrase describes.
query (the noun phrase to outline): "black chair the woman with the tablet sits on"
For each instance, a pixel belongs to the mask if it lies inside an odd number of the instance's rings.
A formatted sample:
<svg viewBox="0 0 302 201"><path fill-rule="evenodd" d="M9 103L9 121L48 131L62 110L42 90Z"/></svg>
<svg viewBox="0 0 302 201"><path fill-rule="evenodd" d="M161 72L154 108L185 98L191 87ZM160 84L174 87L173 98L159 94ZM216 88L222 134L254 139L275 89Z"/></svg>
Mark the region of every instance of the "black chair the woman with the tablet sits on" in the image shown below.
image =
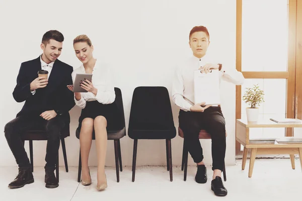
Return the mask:
<svg viewBox="0 0 302 201"><path fill-rule="evenodd" d="M120 129L116 129L116 130L107 129L107 138L108 140L114 140L116 180L117 182L119 182L119 166L120 166L120 170L123 171L120 139L126 135L126 126L125 126L125 115L124 115L124 106L123 106L121 89L114 87L114 91L115 91L115 100L112 104L117 105L119 114L115 114L115 115L121 118L121 122L117 124L122 124L122 125L117 125L117 128ZM77 136L78 139L80 139L80 131L81 130L79 128L75 131L75 135ZM93 131L92 139L95 140L94 131ZM80 149L78 182L81 181L81 170L82 170L82 163L81 163L81 149Z"/></svg>

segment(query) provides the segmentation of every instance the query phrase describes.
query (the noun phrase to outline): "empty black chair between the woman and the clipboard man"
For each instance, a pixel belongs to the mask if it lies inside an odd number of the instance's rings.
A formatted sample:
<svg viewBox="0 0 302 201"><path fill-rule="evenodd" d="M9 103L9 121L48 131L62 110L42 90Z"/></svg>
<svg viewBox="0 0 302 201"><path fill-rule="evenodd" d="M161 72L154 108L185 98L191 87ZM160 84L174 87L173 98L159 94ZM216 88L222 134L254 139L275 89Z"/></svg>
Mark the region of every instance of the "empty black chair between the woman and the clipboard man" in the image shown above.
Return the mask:
<svg viewBox="0 0 302 201"><path fill-rule="evenodd" d="M176 129L166 87L139 86L134 89L128 135L134 140L132 181L135 179L138 139L166 139L167 170L170 170L170 181L173 181L171 139L176 136Z"/></svg>

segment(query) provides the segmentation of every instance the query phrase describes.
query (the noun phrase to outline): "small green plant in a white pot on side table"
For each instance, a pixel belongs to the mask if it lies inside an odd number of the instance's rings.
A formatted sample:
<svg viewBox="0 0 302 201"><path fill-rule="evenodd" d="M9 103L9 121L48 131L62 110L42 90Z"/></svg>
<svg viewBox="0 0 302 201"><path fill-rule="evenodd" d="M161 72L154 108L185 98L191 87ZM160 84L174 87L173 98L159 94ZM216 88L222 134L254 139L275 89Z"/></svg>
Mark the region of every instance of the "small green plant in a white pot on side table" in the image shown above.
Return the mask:
<svg viewBox="0 0 302 201"><path fill-rule="evenodd" d="M251 88L246 88L245 94L242 99L250 107L246 108L248 122L257 122L259 116L259 106L264 102L264 92L258 86L254 84Z"/></svg>

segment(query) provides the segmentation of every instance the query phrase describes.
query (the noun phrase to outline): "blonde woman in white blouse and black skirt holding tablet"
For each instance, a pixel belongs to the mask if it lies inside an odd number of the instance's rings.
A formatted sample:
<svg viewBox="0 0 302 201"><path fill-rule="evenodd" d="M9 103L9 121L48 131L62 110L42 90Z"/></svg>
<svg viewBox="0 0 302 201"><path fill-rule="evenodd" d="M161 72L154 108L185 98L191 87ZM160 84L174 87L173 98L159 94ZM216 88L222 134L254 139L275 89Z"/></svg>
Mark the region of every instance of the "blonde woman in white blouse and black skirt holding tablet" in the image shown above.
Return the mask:
<svg viewBox="0 0 302 201"><path fill-rule="evenodd" d="M88 167L88 157L91 148L93 131L96 139L98 174L97 189L102 190L107 187L105 175L105 158L107 149L106 127L113 125L113 114L116 109L114 86L110 69L105 64L93 57L94 47L91 40L86 35L80 35L73 40L75 55L83 63L72 72L74 84L77 73L92 73L92 82L83 80L81 87L88 92L75 92L74 101L82 108L79 119L80 147L82 159L82 184L90 185L91 176ZM67 86L71 91L73 86Z"/></svg>

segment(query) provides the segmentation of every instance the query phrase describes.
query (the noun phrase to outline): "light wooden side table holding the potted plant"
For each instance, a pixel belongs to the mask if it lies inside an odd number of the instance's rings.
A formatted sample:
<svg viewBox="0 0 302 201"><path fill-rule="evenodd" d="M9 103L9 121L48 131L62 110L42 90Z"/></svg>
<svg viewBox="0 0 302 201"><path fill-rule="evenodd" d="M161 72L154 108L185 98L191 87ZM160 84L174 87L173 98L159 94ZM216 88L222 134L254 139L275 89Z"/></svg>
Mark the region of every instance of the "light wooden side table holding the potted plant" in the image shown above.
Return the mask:
<svg viewBox="0 0 302 201"><path fill-rule="evenodd" d="M253 143L250 142L250 128L302 128L299 124L278 124L271 120L259 120L258 122L248 122L247 120L236 120L236 140L244 146L242 169L245 169L248 148L252 149L249 167L249 177L252 177L255 158L257 154L289 154L292 169L294 165L294 154L299 154L302 168L302 143Z"/></svg>

